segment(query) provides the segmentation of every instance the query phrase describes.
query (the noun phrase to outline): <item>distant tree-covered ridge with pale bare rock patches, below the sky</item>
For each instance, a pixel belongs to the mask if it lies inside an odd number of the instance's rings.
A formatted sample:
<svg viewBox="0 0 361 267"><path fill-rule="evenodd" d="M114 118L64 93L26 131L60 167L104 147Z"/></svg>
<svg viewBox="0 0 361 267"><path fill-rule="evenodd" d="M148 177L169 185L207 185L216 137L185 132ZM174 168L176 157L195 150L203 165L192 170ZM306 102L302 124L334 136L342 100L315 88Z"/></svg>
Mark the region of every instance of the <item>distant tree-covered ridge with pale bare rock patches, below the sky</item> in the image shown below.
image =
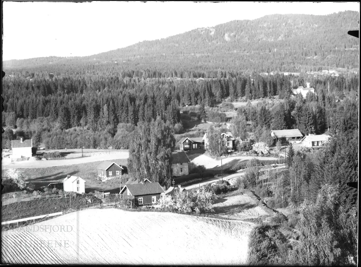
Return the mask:
<svg viewBox="0 0 361 267"><path fill-rule="evenodd" d="M358 29L357 12L327 16L269 15L256 20L223 23L165 39L87 57L49 57L6 61L7 68L42 66L48 72L71 65L117 72L131 68L167 71L165 77L211 77L218 69L256 72L304 72L328 68L358 68L358 39L347 34ZM94 60L95 59L95 60ZM117 61L117 65L115 65ZM58 65L58 67L55 67ZM136 66L136 68L135 68ZM197 73L199 72L199 73ZM181 74L181 75L180 75Z"/></svg>

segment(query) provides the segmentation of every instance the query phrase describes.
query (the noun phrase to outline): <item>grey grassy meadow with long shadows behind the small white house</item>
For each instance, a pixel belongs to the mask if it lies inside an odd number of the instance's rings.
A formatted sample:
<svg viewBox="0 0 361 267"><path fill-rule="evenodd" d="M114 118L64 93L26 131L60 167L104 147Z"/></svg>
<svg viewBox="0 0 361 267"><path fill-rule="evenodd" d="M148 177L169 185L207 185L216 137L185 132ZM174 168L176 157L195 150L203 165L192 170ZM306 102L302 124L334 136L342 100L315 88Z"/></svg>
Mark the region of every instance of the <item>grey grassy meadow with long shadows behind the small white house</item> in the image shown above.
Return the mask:
<svg viewBox="0 0 361 267"><path fill-rule="evenodd" d="M97 158L96 156L93 156ZM83 159L89 159L83 158ZM77 161L78 159L69 159L69 161ZM99 160L99 158L98 158ZM48 163L48 162L56 162L57 160L41 160L38 162L41 163ZM58 162L66 162L68 160L58 160ZM118 165L127 165L127 159L114 159L112 160ZM22 162L19 162L22 163ZM119 178L113 178L111 180L101 182L96 179L97 177L97 169L96 167L101 163L101 161L94 161L94 162L85 162L85 163L78 163L73 165L65 165L65 166L45 166L45 167L28 167L25 165L19 166L19 169L28 177L26 182L33 182L36 186L36 189L39 189L40 186L47 186L53 182L62 182L66 175L77 175L83 178L85 182L85 191L94 191L94 190L101 190L101 191L111 191L114 193L119 193ZM4 177L6 172L2 172L1 176ZM6 192L3 192L6 193Z"/></svg>

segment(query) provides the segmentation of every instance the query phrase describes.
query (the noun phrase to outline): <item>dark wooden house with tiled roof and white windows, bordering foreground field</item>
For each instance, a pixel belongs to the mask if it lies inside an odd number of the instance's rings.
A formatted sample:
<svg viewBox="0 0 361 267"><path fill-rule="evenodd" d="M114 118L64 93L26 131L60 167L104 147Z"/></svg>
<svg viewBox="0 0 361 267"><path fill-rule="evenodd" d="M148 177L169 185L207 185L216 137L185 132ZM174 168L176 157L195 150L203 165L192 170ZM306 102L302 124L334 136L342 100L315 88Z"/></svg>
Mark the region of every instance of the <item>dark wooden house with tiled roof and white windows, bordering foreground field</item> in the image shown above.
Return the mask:
<svg viewBox="0 0 361 267"><path fill-rule="evenodd" d="M164 193L158 182L148 179L140 184L125 185L121 190L121 198L131 200L135 206L155 205Z"/></svg>

